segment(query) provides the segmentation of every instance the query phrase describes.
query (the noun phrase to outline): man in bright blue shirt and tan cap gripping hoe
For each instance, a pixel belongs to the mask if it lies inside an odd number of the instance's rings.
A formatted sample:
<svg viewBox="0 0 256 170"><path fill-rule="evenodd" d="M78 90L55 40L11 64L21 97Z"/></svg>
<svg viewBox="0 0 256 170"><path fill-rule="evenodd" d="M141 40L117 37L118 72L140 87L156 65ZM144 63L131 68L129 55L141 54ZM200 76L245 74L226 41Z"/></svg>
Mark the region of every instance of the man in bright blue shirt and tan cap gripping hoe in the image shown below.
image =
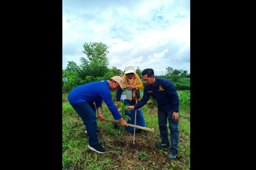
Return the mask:
<svg viewBox="0 0 256 170"><path fill-rule="evenodd" d="M122 78L115 76L109 80L96 81L79 85L68 94L68 101L75 109L77 114L82 118L86 126L88 136L88 148L98 152L105 153L106 150L99 144L97 136L96 108L98 118L104 121L105 118L101 113L102 100L105 101L108 109L116 120L119 120L122 126L128 126L127 122L122 118L119 111L112 100L109 89L114 92L118 87L122 88ZM93 103L95 102L95 104ZM95 108L96 105L96 108Z"/></svg>

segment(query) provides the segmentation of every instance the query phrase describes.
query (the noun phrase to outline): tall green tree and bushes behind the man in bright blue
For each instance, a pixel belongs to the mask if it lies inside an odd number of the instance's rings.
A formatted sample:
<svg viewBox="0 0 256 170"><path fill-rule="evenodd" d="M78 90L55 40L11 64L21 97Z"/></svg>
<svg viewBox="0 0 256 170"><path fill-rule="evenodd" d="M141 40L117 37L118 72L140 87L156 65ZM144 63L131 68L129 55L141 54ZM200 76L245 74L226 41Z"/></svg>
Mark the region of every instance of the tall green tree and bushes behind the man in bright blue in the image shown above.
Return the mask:
<svg viewBox="0 0 256 170"><path fill-rule="evenodd" d="M68 62L67 68L62 73L68 77L68 82L63 85L64 91L70 91L70 89L89 83L92 81L103 80L104 75L108 72L108 58L107 45L102 42L90 42L84 43L83 53L87 55L87 59L84 57L80 58L81 65L73 61ZM114 72L121 70L114 69Z"/></svg>

